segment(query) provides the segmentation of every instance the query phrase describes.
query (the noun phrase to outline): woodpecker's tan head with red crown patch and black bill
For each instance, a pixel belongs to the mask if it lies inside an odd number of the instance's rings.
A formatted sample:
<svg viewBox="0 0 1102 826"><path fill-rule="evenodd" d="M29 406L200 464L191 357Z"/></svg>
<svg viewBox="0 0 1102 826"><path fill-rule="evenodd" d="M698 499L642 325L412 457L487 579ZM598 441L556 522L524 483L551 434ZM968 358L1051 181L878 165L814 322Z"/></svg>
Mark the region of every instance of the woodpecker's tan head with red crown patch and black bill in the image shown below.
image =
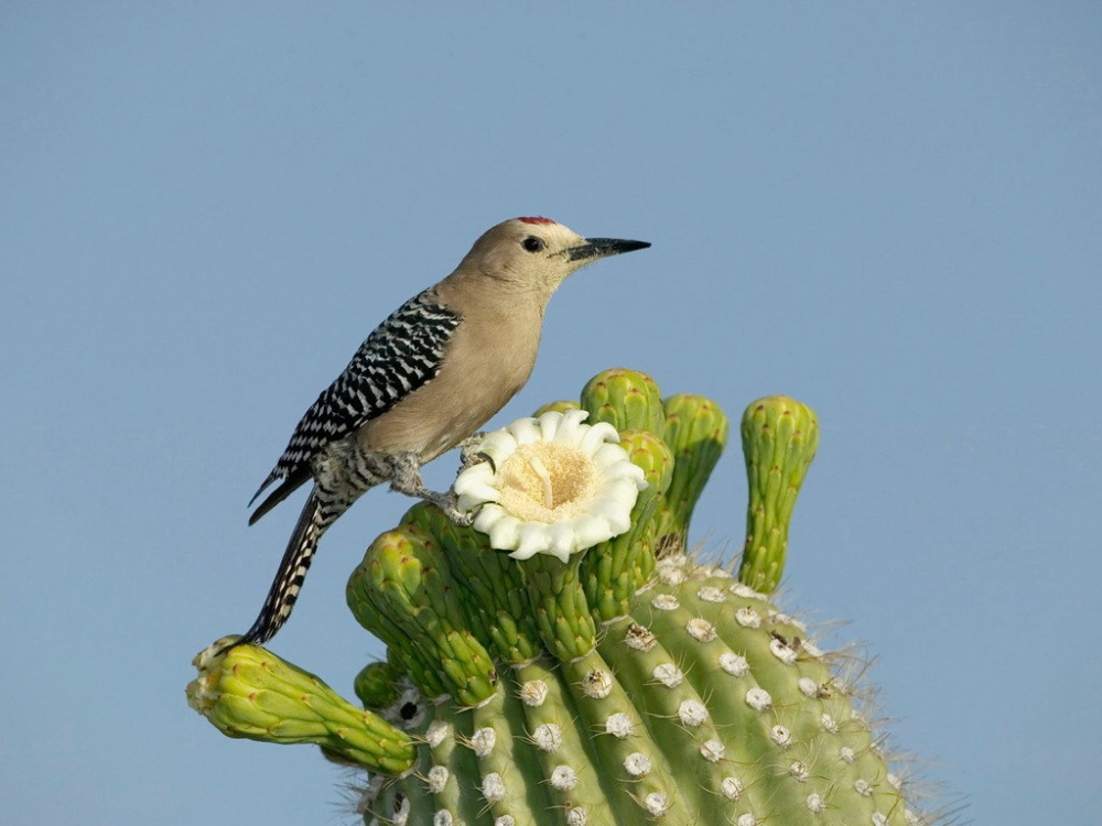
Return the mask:
<svg viewBox="0 0 1102 826"><path fill-rule="evenodd" d="M486 230L456 274L488 276L499 287L536 291L545 301L586 264L649 246L618 238L582 238L550 218L512 218Z"/></svg>

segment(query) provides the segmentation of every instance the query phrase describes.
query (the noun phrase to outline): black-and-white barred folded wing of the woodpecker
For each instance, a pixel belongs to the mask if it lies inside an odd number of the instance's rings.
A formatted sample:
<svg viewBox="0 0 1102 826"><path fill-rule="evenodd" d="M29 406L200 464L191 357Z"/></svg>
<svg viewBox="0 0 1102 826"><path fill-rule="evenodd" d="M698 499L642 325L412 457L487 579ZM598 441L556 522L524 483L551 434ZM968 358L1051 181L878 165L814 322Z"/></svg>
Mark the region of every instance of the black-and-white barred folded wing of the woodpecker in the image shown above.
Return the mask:
<svg viewBox="0 0 1102 826"><path fill-rule="evenodd" d="M425 291L406 302L367 337L336 381L302 416L287 449L249 504L283 479L249 519L252 524L311 476L311 460L326 445L355 433L440 372L460 315Z"/></svg>

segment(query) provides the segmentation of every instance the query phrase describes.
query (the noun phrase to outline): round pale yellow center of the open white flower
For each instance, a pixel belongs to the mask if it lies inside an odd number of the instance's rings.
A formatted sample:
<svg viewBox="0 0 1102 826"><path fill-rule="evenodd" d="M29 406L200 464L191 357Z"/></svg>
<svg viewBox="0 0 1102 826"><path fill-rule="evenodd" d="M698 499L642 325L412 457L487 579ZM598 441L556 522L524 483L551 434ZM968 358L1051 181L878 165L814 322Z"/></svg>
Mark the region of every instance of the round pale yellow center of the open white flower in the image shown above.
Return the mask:
<svg viewBox="0 0 1102 826"><path fill-rule="evenodd" d="M521 445L501 465L498 503L525 522L560 522L585 510L597 488L592 459L554 442Z"/></svg>

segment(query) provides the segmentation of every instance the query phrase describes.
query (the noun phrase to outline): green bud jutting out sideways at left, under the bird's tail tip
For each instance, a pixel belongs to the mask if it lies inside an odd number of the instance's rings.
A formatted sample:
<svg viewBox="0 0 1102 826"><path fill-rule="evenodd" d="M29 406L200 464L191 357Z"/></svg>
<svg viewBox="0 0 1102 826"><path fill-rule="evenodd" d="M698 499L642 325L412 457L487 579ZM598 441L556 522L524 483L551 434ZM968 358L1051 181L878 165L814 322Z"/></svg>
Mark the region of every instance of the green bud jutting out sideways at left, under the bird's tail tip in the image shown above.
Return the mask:
<svg viewBox="0 0 1102 826"><path fill-rule="evenodd" d="M231 639L218 640L195 656L198 676L187 686L188 705L224 735L315 743L387 774L413 764L409 735L260 646L223 651Z"/></svg>

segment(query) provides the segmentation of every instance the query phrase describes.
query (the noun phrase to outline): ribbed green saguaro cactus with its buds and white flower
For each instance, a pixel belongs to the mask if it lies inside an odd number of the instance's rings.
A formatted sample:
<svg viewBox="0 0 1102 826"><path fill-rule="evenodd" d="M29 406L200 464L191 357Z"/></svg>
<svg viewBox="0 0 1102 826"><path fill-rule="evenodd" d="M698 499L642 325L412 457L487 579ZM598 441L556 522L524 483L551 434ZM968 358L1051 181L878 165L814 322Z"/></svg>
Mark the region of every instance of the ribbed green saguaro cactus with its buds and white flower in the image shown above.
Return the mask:
<svg viewBox="0 0 1102 826"><path fill-rule="evenodd" d="M224 641L190 702L231 737L364 767L366 824L918 823L850 660L770 601L814 414L763 399L742 436L737 577L685 547L723 411L611 370L487 438L456 482L485 502L474 526L418 504L371 543L347 599L387 659L356 680L360 705Z"/></svg>

